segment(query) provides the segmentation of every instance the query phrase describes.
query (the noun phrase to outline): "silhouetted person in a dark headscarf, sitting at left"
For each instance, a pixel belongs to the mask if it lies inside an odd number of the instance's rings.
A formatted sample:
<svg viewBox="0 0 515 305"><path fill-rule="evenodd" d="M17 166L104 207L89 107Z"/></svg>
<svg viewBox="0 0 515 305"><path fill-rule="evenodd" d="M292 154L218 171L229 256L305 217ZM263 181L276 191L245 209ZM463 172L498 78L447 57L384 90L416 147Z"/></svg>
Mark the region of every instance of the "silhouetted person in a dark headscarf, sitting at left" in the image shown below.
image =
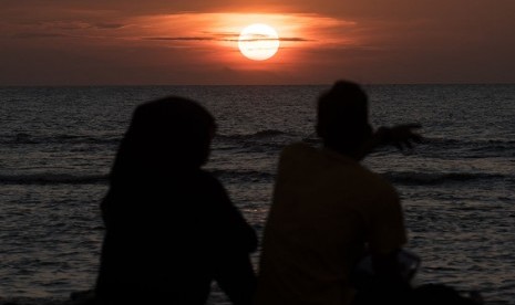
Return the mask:
<svg viewBox="0 0 515 305"><path fill-rule="evenodd" d="M213 281L234 304L250 303L257 236L200 168L214 134L214 118L193 101L135 109L101 203L97 303L205 304Z"/></svg>

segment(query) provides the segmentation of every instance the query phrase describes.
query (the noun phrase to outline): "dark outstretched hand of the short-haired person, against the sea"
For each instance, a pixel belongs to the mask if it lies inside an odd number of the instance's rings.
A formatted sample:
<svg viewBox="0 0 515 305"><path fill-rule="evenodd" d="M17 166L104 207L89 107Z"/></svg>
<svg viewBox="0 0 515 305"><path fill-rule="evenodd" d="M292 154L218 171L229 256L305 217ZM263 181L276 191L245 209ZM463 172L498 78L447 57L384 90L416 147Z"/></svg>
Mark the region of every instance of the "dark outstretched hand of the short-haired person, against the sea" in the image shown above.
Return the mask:
<svg viewBox="0 0 515 305"><path fill-rule="evenodd" d="M412 149L413 143L421 143L422 136L414 132L422 126L420 124L401 124L393 127L380 127L374 136L379 138L381 145L393 145L399 150Z"/></svg>

